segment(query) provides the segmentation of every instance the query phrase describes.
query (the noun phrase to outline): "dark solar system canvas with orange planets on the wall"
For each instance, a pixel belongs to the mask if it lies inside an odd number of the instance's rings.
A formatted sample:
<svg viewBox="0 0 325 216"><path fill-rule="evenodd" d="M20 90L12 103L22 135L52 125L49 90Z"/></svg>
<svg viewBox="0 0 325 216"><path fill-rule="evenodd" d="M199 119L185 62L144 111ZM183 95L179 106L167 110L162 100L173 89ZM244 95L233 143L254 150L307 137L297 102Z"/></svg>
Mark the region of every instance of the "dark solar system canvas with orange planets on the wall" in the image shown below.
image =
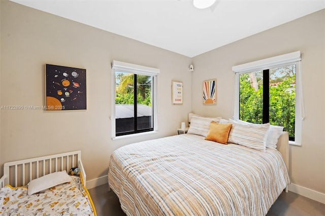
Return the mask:
<svg viewBox="0 0 325 216"><path fill-rule="evenodd" d="M46 64L46 110L86 109L86 69Z"/></svg>

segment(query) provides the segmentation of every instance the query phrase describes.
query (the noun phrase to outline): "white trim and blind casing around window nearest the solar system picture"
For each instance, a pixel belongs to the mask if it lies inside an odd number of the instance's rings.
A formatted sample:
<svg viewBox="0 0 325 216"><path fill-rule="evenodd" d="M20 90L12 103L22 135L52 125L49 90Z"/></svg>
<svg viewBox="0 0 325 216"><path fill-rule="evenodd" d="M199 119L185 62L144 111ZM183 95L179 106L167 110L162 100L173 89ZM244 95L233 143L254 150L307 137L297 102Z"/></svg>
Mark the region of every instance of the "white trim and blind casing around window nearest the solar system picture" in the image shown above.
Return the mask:
<svg viewBox="0 0 325 216"><path fill-rule="evenodd" d="M158 74L160 73L160 70L157 68L152 67L146 67L142 65L136 65L126 62L120 62L120 61L113 61L112 64L112 115L110 117L111 125L112 125L112 140L114 139L122 139L127 137L133 137L133 136L139 136L139 135L145 135L146 133L139 133L139 134L131 134L131 135L124 135L124 136L118 136L116 137L116 122L115 122L115 70L120 72L126 72L126 73L135 73L135 74L141 74L141 75L148 75L148 76L154 76L153 79L153 90L152 90L152 98L153 98L153 132L158 131Z"/></svg>

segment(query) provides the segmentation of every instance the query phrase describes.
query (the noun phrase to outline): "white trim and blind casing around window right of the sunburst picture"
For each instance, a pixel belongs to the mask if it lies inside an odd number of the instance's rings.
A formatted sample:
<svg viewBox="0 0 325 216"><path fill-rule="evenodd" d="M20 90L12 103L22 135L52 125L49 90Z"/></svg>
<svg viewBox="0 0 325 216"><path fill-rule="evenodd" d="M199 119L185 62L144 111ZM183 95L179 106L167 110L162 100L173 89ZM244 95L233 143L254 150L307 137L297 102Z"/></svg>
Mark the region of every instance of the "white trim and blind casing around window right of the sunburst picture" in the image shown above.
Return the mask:
<svg viewBox="0 0 325 216"><path fill-rule="evenodd" d="M298 63L299 62L299 63ZM239 75L258 70L269 69L272 67L296 64L296 119L295 119L295 141L289 141L290 145L301 146L302 121L304 120L303 91L302 91L302 68L300 51L275 56L268 59L249 62L233 66L235 72L235 97L234 97L234 116L239 119Z"/></svg>

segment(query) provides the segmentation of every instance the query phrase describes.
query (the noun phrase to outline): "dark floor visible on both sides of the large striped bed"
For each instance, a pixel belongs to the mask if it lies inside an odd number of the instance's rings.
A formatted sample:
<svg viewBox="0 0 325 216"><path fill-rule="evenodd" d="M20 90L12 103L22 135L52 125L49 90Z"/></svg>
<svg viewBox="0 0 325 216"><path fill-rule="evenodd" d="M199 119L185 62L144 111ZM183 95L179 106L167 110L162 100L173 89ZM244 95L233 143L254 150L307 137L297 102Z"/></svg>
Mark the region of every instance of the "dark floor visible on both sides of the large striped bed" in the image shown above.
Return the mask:
<svg viewBox="0 0 325 216"><path fill-rule="evenodd" d="M108 191L108 185L89 189L89 194L98 216L126 215L113 191ZM325 204L298 195L293 192L283 192L272 205L267 216L323 216Z"/></svg>

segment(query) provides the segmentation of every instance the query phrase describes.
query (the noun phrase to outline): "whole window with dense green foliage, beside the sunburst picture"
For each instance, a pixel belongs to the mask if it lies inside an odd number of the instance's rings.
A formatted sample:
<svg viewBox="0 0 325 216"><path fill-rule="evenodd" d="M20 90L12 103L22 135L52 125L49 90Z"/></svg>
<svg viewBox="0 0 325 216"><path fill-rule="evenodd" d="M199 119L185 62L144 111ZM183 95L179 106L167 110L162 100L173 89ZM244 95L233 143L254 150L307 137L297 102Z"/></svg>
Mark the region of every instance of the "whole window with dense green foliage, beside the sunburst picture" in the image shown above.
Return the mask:
<svg viewBox="0 0 325 216"><path fill-rule="evenodd" d="M234 66L234 118L284 126L289 140L301 142L300 52Z"/></svg>

